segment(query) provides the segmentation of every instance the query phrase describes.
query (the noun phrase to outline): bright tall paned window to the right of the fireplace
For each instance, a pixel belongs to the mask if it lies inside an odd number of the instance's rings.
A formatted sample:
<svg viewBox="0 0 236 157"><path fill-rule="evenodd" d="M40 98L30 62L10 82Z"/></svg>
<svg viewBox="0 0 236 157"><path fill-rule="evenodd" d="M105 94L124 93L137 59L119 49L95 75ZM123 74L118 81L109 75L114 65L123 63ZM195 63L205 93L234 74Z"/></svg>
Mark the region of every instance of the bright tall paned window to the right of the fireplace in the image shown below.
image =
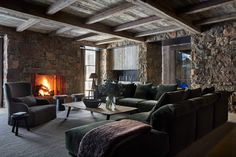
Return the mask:
<svg viewBox="0 0 236 157"><path fill-rule="evenodd" d="M91 73L96 72L96 48L85 47L85 95L88 96L88 90L92 88L93 79L89 78Z"/></svg>

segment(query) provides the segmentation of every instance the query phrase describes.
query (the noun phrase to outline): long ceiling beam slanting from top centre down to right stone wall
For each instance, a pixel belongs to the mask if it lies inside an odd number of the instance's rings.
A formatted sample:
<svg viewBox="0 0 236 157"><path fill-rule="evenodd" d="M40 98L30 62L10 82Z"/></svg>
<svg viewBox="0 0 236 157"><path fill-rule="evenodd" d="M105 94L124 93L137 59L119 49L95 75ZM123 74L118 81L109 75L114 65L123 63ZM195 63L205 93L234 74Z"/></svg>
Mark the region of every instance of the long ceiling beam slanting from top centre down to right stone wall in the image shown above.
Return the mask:
<svg viewBox="0 0 236 157"><path fill-rule="evenodd" d="M155 0L126 0L132 2L139 7L150 9L156 13L157 16L171 20L175 22L179 27L185 29L193 34L200 33L201 29L198 26L194 26L191 21L186 21L183 18L179 17L174 10L170 10L166 6L164 6L163 1L155 1Z"/></svg>

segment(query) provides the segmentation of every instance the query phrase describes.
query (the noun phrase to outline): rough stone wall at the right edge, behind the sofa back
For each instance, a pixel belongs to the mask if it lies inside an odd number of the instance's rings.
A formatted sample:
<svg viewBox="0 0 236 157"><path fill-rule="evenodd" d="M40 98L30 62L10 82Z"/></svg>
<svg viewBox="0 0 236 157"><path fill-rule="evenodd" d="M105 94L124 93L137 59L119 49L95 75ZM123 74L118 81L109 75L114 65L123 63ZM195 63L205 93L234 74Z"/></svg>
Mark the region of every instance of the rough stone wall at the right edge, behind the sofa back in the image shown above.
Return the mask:
<svg viewBox="0 0 236 157"><path fill-rule="evenodd" d="M236 21L192 36L192 87L236 91Z"/></svg>

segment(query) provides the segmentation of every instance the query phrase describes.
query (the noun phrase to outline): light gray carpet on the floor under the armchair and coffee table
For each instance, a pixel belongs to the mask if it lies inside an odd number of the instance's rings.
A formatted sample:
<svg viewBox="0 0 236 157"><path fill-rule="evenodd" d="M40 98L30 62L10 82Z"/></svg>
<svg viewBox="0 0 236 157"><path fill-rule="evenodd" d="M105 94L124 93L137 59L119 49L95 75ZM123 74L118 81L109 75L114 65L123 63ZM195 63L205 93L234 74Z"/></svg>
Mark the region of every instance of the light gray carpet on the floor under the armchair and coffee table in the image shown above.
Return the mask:
<svg viewBox="0 0 236 157"><path fill-rule="evenodd" d="M7 125L7 112L0 112L0 156L1 157L69 157L65 148L65 131L105 120L101 114L88 111L71 111L67 120L66 112L57 114L57 118L28 132L19 129L19 137L11 132ZM122 115L121 115L122 116ZM115 118L115 117L112 117Z"/></svg>

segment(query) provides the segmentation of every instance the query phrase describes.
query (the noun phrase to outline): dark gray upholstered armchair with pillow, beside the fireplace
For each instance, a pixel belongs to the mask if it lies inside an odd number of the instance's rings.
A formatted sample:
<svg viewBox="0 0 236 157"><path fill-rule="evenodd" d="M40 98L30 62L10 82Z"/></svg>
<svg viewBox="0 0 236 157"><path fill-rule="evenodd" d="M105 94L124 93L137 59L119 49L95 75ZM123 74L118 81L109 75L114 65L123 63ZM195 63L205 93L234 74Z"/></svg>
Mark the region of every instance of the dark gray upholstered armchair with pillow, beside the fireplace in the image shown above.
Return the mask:
<svg viewBox="0 0 236 157"><path fill-rule="evenodd" d="M35 98L29 82L5 83L4 92L8 106L8 124L15 112L29 113L28 124L31 127L43 124L56 118L56 105L49 104L46 99ZM24 125L24 123L20 123Z"/></svg>

